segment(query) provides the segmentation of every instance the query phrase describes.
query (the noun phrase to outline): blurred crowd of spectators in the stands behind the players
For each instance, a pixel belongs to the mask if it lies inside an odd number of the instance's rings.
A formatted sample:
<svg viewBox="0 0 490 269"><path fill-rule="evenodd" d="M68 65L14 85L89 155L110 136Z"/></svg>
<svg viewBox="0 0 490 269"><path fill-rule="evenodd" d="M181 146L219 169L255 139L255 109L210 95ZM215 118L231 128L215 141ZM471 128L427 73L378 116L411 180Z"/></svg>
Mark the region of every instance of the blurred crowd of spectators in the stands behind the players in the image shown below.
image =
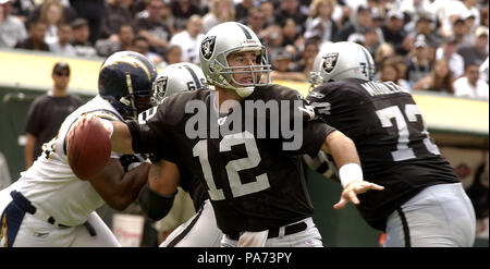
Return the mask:
<svg viewBox="0 0 490 269"><path fill-rule="evenodd" d="M306 82L319 51L350 40L378 80L488 100L488 0L0 0L0 48L198 64L204 34L236 21L268 47L273 80Z"/></svg>

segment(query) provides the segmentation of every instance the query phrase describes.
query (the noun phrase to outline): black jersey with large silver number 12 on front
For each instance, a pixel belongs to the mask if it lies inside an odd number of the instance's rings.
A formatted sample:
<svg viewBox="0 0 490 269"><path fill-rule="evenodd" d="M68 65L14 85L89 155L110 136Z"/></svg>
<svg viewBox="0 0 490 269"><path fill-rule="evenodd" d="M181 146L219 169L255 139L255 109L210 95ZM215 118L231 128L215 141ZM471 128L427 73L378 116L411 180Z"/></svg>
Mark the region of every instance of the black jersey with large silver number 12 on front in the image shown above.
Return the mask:
<svg viewBox="0 0 490 269"><path fill-rule="evenodd" d="M217 111L213 98L211 90L167 98L144 124L128 124L134 150L155 152L197 176L224 233L262 231L311 217L301 156L316 156L334 129L308 121L310 113L302 112L306 101L279 85L256 87L226 114ZM254 102L279 107L247 109ZM293 117L294 111L301 117ZM297 122L299 130L292 127ZM282 132L287 127L298 132ZM285 147L295 137L302 138L299 146Z"/></svg>

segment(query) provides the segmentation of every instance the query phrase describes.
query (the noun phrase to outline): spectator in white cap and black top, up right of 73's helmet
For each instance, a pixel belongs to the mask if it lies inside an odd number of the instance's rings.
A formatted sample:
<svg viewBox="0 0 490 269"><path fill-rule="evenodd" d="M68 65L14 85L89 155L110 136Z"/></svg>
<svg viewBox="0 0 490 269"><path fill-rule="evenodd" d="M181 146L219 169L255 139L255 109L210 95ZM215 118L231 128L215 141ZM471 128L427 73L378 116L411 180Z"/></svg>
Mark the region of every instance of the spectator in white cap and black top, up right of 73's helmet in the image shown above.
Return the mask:
<svg viewBox="0 0 490 269"><path fill-rule="evenodd" d="M403 46L403 40L407 33L403 26L404 14L396 9L392 9L388 12L384 25L381 26L381 30L383 32L384 41L393 45L397 54L405 56L408 53L408 50Z"/></svg>

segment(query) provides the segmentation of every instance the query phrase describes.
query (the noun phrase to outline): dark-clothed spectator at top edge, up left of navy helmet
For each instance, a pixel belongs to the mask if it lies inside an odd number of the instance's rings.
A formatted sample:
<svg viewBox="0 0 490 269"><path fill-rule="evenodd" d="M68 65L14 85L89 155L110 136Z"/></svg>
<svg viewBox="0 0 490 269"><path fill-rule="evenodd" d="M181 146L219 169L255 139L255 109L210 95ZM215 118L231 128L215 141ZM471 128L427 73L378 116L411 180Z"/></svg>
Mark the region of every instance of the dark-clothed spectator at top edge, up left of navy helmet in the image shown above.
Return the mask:
<svg viewBox="0 0 490 269"><path fill-rule="evenodd" d="M106 0L100 38L114 38L121 26L132 21L131 12L122 4L122 0Z"/></svg>

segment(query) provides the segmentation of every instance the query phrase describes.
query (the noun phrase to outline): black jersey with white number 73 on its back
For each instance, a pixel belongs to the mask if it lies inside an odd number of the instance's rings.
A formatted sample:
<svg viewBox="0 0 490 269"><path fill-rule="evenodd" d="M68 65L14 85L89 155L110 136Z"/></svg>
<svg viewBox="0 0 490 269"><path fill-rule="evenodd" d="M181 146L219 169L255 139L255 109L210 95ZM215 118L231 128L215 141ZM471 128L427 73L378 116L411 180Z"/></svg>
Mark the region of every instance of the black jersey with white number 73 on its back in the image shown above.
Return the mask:
<svg viewBox="0 0 490 269"><path fill-rule="evenodd" d="M460 182L440 156L412 95L391 82L327 83L306 98L326 123L352 138L364 178L384 191L360 194L357 206L373 228L424 187Z"/></svg>

